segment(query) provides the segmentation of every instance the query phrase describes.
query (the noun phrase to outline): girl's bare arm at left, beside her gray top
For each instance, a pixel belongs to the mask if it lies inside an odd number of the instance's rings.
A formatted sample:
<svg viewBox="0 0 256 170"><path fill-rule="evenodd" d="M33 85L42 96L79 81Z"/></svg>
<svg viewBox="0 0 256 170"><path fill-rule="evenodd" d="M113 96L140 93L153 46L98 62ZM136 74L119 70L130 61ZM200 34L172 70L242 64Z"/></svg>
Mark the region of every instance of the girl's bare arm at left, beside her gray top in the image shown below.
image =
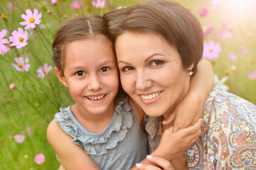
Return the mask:
<svg viewBox="0 0 256 170"><path fill-rule="evenodd" d="M57 121L52 120L48 125L47 138L65 170L99 170L84 150L72 142L72 137L60 128Z"/></svg>

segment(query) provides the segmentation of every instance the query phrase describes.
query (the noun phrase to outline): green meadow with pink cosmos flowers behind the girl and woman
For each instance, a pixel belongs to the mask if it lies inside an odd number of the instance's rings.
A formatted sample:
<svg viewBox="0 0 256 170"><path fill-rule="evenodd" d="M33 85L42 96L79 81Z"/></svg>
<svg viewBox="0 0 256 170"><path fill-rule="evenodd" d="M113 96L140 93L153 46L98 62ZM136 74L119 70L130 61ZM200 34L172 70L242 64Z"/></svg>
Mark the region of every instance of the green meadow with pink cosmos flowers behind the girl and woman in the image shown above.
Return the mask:
<svg viewBox="0 0 256 170"><path fill-rule="evenodd" d="M174 1L199 18L203 57L213 64L218 84L256 104L256 0ZM72 16L102 16L138 2L0 0L0 169L60 166L46 129L73 101L50 59L57 26Z"/></svg>

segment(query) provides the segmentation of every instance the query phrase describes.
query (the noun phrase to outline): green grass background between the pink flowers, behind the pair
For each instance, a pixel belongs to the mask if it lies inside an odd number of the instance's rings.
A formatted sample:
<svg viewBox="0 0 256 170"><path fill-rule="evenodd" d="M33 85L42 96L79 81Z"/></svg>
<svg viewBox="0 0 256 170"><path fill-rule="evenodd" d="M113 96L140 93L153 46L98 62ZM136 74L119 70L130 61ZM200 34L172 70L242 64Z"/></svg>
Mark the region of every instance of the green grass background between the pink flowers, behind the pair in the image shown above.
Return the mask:
<svg viewBox="0 0 256 170"><path fill-rule="evenodd" d="M43 63L53 66L50 60L50 46L55 29L65 18L87 16L89 13L102 15L104 12L110 11L113 6L115 8L132 6L139 1L112 0L108 1L111 6L101 9L91 6L91 1L83 1L84 6L79 11L70 8L71 1L67 0L59 0L57 6L50 5L50 0L13 0L13 11L9 11L7 8L9 1L1 0L0 2L1 13L4 13L9 19L8 23L0 21L0 31L2 29L8 30L5 38L8 38L11 32L17 30L18 27L24 28L19 23L23 21L21 14L25 13L27 8L31 10L38 8L38 11L43 14L42 21L36 30L28 30L30 38L26 47L21 50L16 50L13 47L6 55L0 55L0 169L57 169L59 163L48 144L45 132L48 123L54 118L59 108L69 106L73 101L69 96L69 91L55 77L53 69L44 79L38 78L36 72ZM234 38L214 40L221 44L222 52L218 59L211 60L213 69L220 78L225 75L229 76L226 84L230 87L231 93L256 103L256 81L247 79L247 74L256 70L255 11L247 10L240 13L240 16L235 16L236 18L228 18L230 16L225 15L227 9L221 4L211 6L209 1L203 0L177 2L190 8L203 26L210 23L215 27L216 30L214 30L213 35L218 33L222 21L229 22L233 26ZM200 17L198 13L199 8L203 7L208 8L206 18ZM48 14L48 11L51 11L51 14ZM205 41L208 42L213 38L213 35L206 38ZM247 48L248 53L246 55L240 52L241 45ZM230 52L238 56L237 61L228 59ZM24 56L30 60L29 72L17 72L11 63L15 57ZM232 66L235 66L236 69L231 69ZM10 90L10 84L15 84L15 89ZM23 143L16 143L13 136L21 134L28 127L32 128L32 135L26 135ZM45 162L38 165L35 164L34 157L40 153L45 155Z"/></svg>

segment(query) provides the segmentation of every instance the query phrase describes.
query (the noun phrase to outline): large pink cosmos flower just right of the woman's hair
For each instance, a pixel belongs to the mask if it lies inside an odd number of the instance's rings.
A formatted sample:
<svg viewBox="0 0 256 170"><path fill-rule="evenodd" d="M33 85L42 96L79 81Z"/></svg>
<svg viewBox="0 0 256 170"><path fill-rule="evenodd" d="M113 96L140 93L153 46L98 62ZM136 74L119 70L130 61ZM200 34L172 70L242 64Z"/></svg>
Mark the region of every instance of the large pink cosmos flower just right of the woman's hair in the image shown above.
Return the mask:
<svg viewBox="0 0 256 170"><path fill-rule="evenodd" d="M214 43L212 40L208 43L204 42L204 52L203 57L209 60L219 57L219 52L221 52L221 45Z"/></svg>

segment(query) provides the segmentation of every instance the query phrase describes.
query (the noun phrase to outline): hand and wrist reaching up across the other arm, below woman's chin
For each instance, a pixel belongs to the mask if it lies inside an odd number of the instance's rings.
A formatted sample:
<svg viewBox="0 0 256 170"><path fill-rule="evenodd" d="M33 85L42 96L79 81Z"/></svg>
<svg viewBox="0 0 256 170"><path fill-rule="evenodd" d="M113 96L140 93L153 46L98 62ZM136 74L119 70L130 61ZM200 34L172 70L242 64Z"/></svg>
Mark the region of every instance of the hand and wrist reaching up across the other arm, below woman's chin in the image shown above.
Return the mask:
<svg viewBox="0 0 256 170"><path fill-rule="evenodd" d="M201 136L201 123L202 119L200 118L195 125L179 130L178 132L172 132L172 127L168 128L162 134L160 145L150 155L167 159L169 162L174 161L173 165L175 169L186 169L185 166L180 168L180 166L178 167L176 165L180 165L180 162L183 162L182 154L189 149L196 140L199 140ZM160 164L157 165L154 163L150 162L148 159L143 159L143 161L140 162L140 164L150 164L161 167ZM135 170L138 168L135 166L132 169Z"/></svg>

